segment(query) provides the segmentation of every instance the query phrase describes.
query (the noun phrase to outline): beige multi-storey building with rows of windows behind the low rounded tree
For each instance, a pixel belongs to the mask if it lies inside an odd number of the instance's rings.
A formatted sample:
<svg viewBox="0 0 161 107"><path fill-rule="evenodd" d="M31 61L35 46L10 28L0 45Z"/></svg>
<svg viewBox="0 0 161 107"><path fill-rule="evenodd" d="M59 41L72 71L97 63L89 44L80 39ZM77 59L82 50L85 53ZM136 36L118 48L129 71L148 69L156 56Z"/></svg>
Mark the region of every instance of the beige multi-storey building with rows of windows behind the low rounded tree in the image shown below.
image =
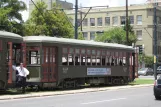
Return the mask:
<svg viewBox="0 0 161 107"><path fill-rule="evenodd" d="M126 23L125 7L107 7L107 8L94 8L86 16L82 24L82 31L84 38L87 40L93 40L95 34L100 31L106 31L112 27L121 27ZM79 10L85 16L88 9ZM74 11L66 11L69 17L72 18L74 24ZM157 7L157 40L158 40L158 57L161 62L161 30L159 24L161 24L161 8ZM153 6L150 4L144 5L131 5L128 11L130 24L134 28L134 32L137 36L136 46L144 45L144 53L148 56L153 55ZM78 23L80 23L81 15L78 14Z"/></svg>

